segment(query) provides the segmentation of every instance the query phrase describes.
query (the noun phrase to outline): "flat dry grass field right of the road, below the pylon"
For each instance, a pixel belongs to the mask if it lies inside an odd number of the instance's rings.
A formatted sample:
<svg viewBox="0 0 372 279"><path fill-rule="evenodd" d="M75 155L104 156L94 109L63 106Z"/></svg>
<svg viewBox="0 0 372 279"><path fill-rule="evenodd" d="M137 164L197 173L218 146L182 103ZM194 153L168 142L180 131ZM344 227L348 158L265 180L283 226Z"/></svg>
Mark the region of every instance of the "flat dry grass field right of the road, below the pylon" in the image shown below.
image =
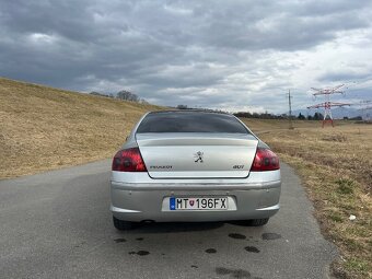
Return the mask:
<svg viewBox="0 0 372 279"><path fill-rule="evenodd" d="M295 121L298 128L288 130L275 120L264 128L244 121L258 133L272 126L259 136L303 177L323 233L342 256L333 265L335 274L372 278L372 125L341 121L322 129L316 121ZM350 214L357 219L350 221Z"/></svg>

